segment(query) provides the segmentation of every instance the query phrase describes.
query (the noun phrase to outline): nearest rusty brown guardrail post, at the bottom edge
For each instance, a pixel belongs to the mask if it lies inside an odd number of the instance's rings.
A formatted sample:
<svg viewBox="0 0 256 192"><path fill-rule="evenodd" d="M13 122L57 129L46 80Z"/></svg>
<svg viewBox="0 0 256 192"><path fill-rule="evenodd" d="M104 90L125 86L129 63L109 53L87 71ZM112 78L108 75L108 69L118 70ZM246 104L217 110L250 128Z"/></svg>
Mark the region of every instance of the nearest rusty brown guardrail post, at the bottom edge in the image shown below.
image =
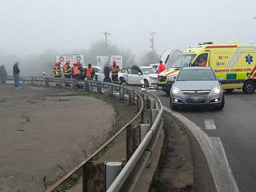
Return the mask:
<svg viewBox="0 0 256 192"><path fill-rule="evenodd" d="M89 161L82 167L82 192L105 191L105 162Z"/></svg>

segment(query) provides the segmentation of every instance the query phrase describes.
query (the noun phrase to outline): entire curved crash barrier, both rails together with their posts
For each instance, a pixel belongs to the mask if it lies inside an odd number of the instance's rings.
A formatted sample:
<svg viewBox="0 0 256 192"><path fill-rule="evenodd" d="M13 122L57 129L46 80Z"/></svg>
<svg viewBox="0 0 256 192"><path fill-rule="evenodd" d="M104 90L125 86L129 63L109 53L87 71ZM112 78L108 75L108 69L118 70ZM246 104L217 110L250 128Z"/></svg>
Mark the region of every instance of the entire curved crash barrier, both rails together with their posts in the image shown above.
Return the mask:
<svg viewBox="0 0 256 192"><path fill-rule="evenodd" d="M13 81L12 77L8 81ZM81 88L85 91L106 93L109 97L119 96L119 99L128 99L129 105L137 105L137 114L118 132L107 140L99 149L74 167L52 186L47 192L64 191L70 180L82 178L81 191L133 191L140 174L150 163L150 156L157 143L163 119L163 107L154 94L145 91L139 92L131 88L99 81L79 81L74 79L53 77L20 77L22 83L45 84L46 86ZM117 136L126 132L126 160L120 162L93 161L103 149L106 149Z"/></svg>

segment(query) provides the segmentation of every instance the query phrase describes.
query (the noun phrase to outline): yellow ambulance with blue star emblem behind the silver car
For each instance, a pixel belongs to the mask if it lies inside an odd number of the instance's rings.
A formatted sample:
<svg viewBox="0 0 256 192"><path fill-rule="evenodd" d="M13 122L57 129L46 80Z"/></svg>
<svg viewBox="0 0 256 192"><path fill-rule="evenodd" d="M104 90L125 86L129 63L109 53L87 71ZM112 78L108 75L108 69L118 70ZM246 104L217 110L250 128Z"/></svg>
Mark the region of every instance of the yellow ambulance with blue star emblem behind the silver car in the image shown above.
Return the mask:
<svg viewBox="0 0 256 192"><path fill-rule="evenodd" d="M169 94L179 70L189 66L212 67L217 77L222 79L225 91L242 88L244 93L251 94L256 89L256 44L199 43L186 50L170 68L158 75L157 89Z"/></svg>

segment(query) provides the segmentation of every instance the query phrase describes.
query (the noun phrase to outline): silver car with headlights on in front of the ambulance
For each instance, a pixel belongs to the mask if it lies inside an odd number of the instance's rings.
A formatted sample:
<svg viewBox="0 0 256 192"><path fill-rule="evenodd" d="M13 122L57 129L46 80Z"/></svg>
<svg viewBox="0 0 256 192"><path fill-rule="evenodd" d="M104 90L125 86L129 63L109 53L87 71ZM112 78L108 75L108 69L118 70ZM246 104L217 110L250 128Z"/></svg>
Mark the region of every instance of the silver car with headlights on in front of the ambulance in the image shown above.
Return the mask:
<svg viewBox="0 0 256 192"><path fill-rule="evenodd" d="M220 81L210 67L184 67L171 87L171 109L182 105L212 105L222 110L225 99Z"/></svg>

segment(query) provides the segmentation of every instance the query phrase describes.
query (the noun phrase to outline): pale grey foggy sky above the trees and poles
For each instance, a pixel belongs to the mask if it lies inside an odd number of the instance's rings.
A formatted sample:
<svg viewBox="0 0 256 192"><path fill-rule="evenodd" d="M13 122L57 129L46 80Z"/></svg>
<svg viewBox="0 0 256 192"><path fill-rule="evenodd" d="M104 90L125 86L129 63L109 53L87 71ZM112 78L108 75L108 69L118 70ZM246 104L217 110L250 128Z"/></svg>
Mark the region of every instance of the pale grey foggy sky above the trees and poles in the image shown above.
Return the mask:
<svg viewBox="0 0 256 192"><path fill-rule="evenodd" d="M0 51L40 53L111 43L140 54L155 32L157 53L199 42L256 40L256 1L234 0L0 0Z"/></svg>

